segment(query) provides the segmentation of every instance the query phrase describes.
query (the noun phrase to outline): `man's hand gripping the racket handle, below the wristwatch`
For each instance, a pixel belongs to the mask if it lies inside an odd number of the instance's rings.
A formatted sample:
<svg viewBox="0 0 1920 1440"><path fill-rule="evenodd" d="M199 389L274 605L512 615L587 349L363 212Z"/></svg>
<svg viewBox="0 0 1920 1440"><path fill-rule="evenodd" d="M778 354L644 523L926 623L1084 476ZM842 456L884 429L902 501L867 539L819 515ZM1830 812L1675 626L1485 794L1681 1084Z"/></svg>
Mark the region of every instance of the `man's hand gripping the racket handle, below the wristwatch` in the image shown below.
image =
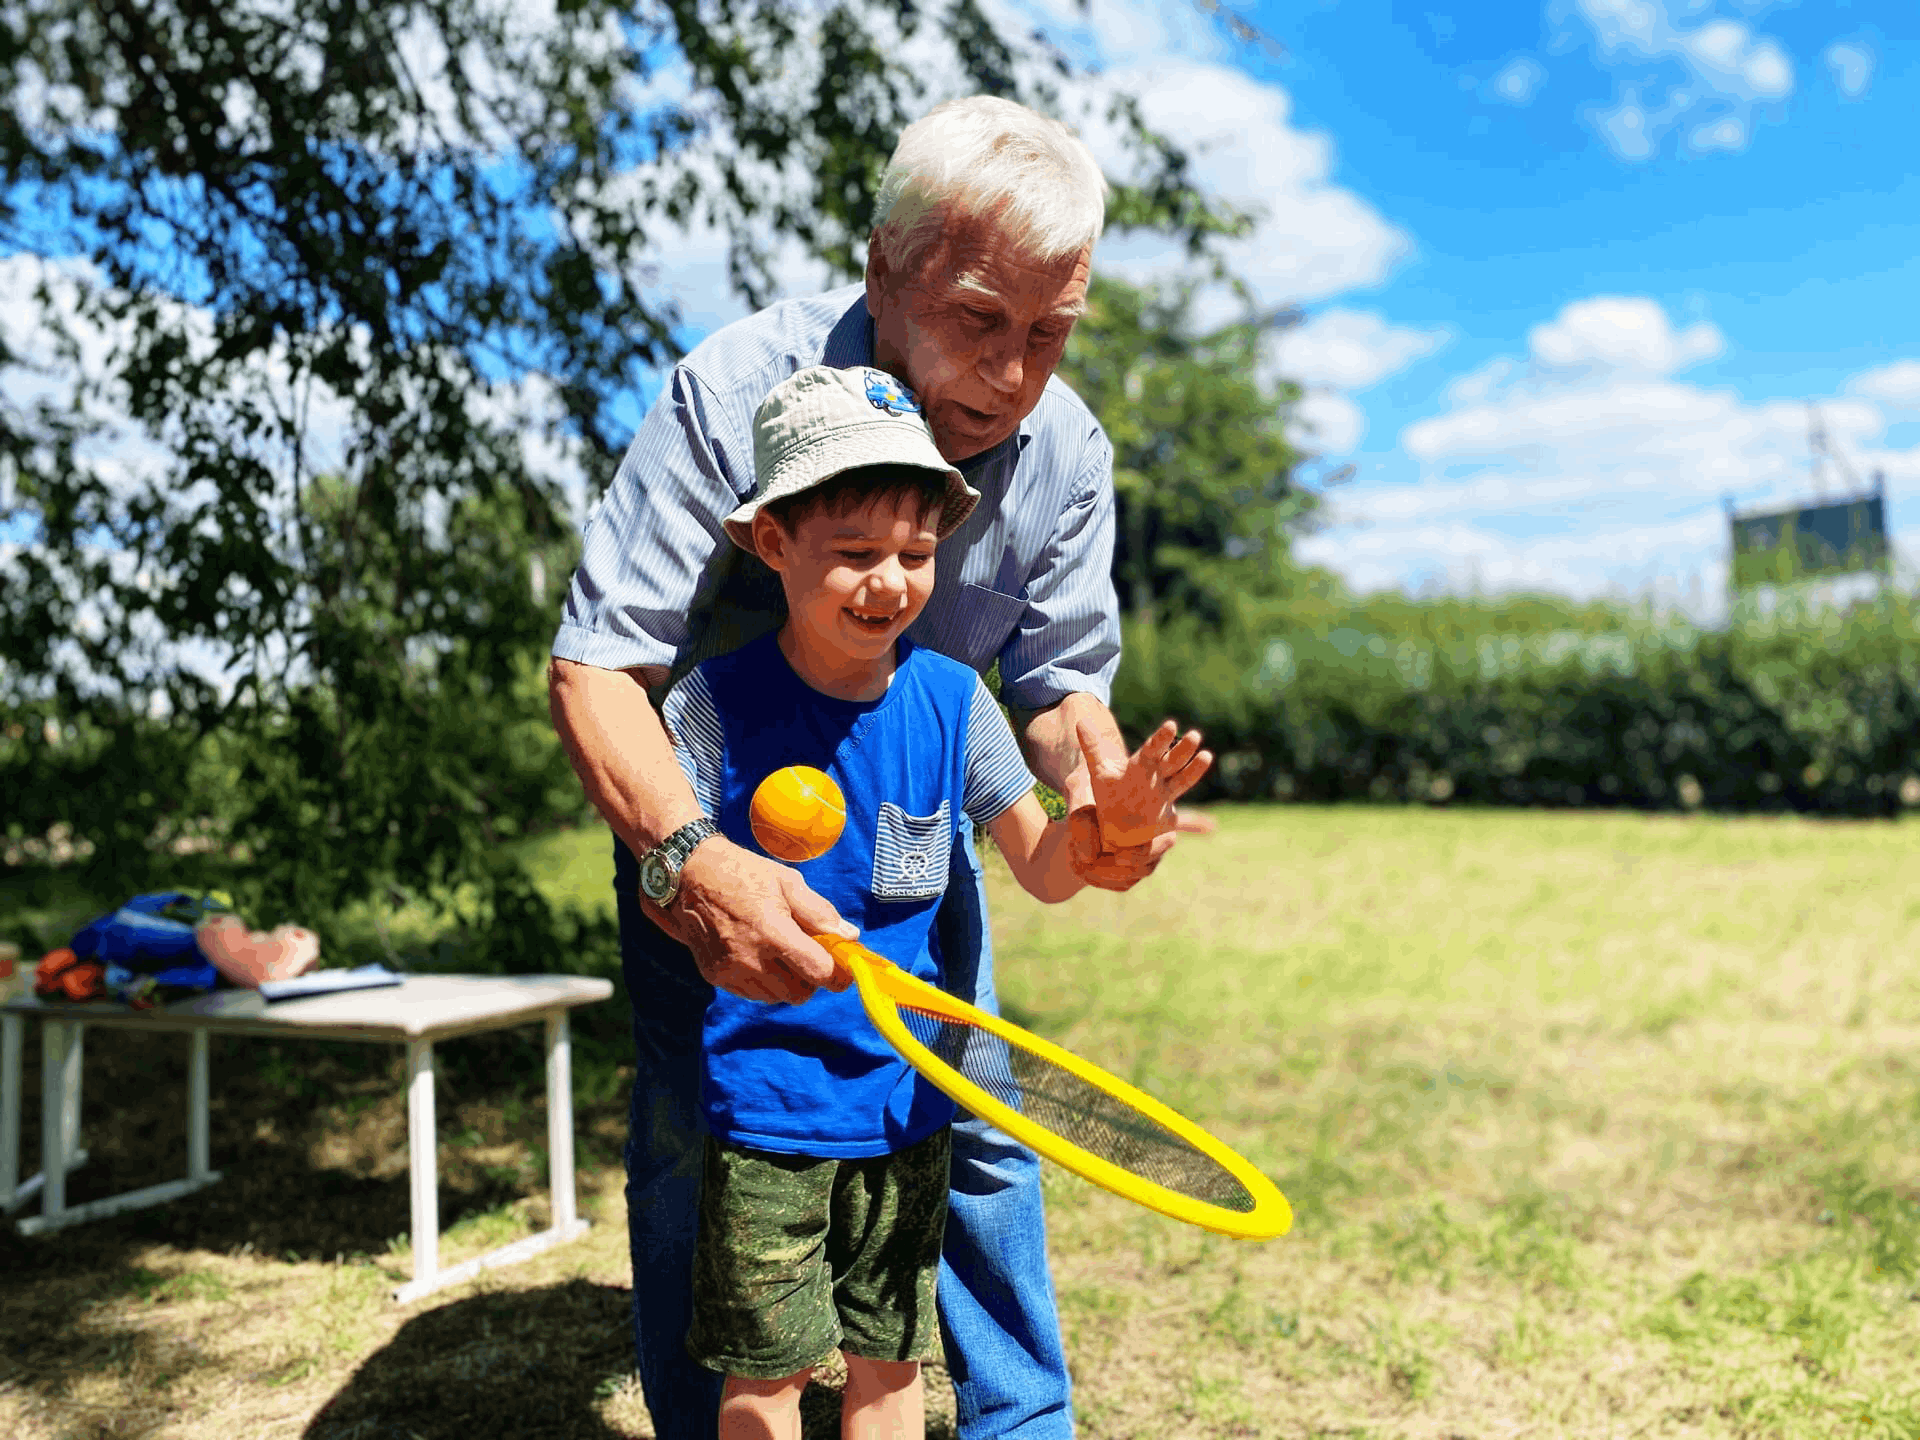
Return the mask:
<svg viewBox="0 0 1920 1440"><path fill-rule="evenodd" d="M693 950L693 964L716 989L747 1000L799 1004L816 989L849 985L814 935L858 939L860 931L814 895L797 870L724 835L687 856L668 910L641 904L660 929Z"/></svg>

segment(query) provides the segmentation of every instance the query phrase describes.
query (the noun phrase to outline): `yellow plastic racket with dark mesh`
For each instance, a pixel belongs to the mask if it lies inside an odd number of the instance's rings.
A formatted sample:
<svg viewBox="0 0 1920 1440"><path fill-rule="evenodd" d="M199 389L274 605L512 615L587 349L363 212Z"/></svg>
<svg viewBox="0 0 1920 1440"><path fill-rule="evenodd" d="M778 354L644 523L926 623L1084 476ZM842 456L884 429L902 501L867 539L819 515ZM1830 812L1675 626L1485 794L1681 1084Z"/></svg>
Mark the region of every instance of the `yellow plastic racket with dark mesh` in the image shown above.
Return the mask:
<svg viewBox="0 0 1920 1440"><path fill-rule="evenodd" d="M816 935L874 1027L954 1104L1114 1194L1223 1235L1286 1235L1286 1196L1242 1156L1117 1075L956 1000L858 941Z"/></svg>

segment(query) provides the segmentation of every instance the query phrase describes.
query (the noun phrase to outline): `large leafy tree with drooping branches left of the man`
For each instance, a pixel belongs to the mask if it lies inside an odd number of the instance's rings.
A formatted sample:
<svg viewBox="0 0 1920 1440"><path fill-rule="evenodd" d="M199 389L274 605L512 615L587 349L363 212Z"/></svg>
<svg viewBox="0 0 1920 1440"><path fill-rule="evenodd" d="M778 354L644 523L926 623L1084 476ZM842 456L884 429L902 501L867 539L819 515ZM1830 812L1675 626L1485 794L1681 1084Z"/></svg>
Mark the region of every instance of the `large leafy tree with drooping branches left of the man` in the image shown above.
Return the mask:
<svg viewBox="0 0 1920 1440"><path fill-rule="evenodd" d="M104 887L213 864L165 843L213 816L263 920L457 897L551 964L503 845L578 804L540 576L568 470L612 474L676 355L676 236L724 236L751 303L795 253L849 273L920 75L1041 106L1068 79L975 0L526 13L0 4L0 265L31 290L0 349L0 828L73 826ZM1112 119L1144 177L1119 225L1233 228Z"/></svg>

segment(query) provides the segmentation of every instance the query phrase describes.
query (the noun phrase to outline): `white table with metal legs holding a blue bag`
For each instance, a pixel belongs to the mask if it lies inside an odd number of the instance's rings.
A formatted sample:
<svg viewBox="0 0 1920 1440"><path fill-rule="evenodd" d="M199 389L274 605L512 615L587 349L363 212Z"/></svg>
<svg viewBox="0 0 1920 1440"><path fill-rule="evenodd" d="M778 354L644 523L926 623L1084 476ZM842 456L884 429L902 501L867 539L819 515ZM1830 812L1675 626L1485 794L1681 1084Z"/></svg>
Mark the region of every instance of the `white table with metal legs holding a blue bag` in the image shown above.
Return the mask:
<svg viewBox="0 0 1920 1440"><path fill-rule="evenodd" d="M257 991L213 991L159 1010L92 1000L56 1004L23 995L0 1006L0 1210L40 1196L23 1235L165 1204L219 1181L207 1154L207 1037L265 1035L307 1041L384 1041L407 1046L407 1160L413 1185L413 1279L394 1292L417 1300L482 1269L511 1265L586 1233L574 1204L574 1087L566 1012L612 995L584 975L407 975L399 985L267 1002ZM40 1021L40 1173L19 1175L21 1029ZM543 1021L547 1029L547 1185L553 1223L540 1235L440 1269L440 1165L434 1144L434 1043ZM67 1204L67 1173L81 1148L83 1029L182 1029L186 1068L186 1177L142 1190Z"/></svg>

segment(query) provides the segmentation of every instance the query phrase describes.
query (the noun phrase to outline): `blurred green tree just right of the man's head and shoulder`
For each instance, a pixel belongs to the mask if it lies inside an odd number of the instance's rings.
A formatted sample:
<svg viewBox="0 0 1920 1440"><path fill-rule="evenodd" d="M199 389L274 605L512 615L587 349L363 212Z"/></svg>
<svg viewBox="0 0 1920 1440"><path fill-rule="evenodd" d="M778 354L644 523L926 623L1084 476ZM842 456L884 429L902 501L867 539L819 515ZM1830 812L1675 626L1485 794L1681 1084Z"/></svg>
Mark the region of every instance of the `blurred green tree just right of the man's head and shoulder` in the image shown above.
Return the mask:
<svg viewBox="0 0 1920 1440"><path fill-rule="evenodd" d="M1192 286L1096 278L1062 374L1114 442L1114 580L1137 624L1219 624L1286 582L1313 511L1286 419L1300 388L1261 378L1261 340L1294 317L1194 328Z"/></svg>

